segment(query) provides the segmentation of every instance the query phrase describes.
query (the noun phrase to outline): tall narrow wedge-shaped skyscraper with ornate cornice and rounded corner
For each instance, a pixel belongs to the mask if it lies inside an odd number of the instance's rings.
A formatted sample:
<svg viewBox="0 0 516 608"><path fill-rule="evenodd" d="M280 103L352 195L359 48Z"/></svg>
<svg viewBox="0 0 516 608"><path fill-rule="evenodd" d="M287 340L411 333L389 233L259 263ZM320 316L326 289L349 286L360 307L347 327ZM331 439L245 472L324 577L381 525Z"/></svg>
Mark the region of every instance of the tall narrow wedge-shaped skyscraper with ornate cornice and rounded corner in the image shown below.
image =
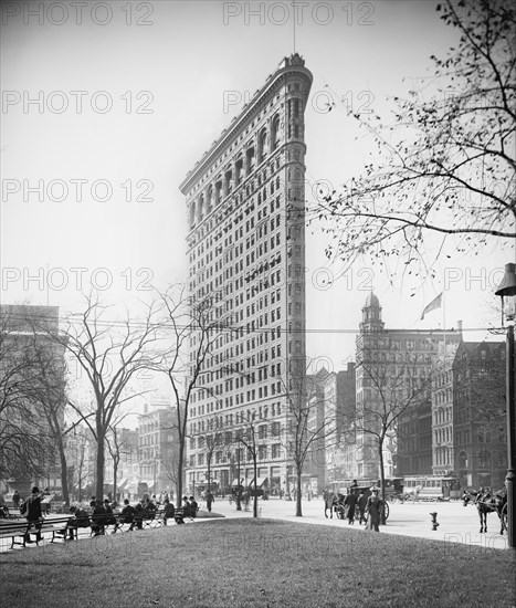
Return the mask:
<svg viewBox="0 0 516 608"><path fill-rule="evenodd" d="M305 357L305 126L312 74L294 54L244 106L181 184L190 296L210 296L221 331L192 396L187 485L251 476L239 427L261 427L260 476L286 489L286 391ZM233 434L232 434L233 433ZM211 440L210 440L211 438Z"/></svg>

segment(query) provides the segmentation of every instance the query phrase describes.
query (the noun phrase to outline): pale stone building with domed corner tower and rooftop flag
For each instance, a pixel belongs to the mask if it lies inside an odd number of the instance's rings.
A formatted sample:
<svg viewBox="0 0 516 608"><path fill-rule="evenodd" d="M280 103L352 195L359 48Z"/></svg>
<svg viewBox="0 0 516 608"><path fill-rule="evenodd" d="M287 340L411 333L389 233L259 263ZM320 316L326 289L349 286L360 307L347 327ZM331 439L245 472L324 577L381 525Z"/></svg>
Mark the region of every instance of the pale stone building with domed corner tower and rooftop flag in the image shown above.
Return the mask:
<svg viewBox="0 0 516 608"><path fill-rule="evenodd" d="M357 337L358 478L379 478L382 419L391 420L382 450L386 478L432 474L432 380L444 345L456 347L460 339L460 331L387 329L378 297L367 296Z"/></svg>

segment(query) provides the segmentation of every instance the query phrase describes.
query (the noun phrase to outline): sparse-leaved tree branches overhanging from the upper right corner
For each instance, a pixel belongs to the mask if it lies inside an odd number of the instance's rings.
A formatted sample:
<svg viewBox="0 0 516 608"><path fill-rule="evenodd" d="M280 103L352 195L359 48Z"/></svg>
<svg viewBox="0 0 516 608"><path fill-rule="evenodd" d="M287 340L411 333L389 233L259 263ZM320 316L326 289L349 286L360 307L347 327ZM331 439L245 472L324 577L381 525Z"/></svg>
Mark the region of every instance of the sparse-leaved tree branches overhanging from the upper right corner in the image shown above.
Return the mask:
<svg viewBox="0 0 516 608"><path fill-rule="evenodd" d="M475 254L488 239L514 244L515 7L446 0L436 10L456 30L457 43L445 59L430 57L434 96L425 101L428 86L421 86L407 99L394 97L390 126L379 116L373 126L354 115L379 160L316 206L313 219L326 220L331 237L328 258L366 253L387 266L401 258L402 269L414 262L419 268L411 269L424 276L432 273L429 256L435 261L450 238L457 251Z"/></svg>

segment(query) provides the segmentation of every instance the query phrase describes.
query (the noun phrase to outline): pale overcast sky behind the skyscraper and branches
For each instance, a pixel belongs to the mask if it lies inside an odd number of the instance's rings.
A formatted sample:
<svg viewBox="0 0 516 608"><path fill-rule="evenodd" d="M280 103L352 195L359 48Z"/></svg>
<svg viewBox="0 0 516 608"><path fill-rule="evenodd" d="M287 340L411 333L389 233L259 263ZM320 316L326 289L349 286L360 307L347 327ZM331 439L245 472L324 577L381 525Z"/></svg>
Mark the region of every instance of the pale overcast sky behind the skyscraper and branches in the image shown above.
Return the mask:
<svg viewBox="0 0 516 608"><path fill-rule="evenodd" d="M35 3L39 14L29 4L2 8L2 303L80 310L93 277L106 303L131 306L145 287L186 279L179 185L293 52L292 3L97 2L81 15L61 2ZM411 87L430 96L429 56L444 55L456 33L432 0L298 4L295 50L314 74L306 179L338 187L371 148L345 104L326 112L328 95L380 114ZM466 339L499 324L492 291L514 252L493 243L474 265L452 252L423 286L411 276L391 284L364 262L338 280L334 265L333 285L316 289L326 242L307 231L307 350L334 369L355 355L371 287L388 327L442 326L441 311L419 317L443 290L446 326L463 319Z"/></svg>

